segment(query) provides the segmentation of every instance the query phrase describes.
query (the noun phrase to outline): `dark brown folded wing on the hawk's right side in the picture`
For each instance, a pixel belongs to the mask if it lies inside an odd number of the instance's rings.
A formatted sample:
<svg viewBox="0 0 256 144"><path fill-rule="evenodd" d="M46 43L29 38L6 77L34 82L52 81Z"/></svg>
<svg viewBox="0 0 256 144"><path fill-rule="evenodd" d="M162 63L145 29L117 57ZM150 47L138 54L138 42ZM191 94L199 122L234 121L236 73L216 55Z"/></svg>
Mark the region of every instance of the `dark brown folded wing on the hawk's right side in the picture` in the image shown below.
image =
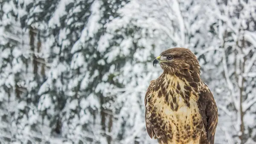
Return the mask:
<svg viewBox="0 0 256 144"><path fill-rule="evenodd" d="M203 85L204 88L199 94L198 107L207 132L207 141L209 144L214 144L215 130L218 124L218 108L212 92L207 85L204 83Z"/></svg>

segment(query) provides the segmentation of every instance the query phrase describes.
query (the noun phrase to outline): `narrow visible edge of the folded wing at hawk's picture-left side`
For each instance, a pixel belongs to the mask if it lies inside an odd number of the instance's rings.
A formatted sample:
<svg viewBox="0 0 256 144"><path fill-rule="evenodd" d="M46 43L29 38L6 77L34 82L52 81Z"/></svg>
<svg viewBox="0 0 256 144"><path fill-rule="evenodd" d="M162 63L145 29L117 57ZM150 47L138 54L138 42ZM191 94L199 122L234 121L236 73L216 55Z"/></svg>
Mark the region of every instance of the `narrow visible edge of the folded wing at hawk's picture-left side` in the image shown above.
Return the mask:
<svg viewBox="0 0 256 144"><path fill-rule="evenodd" d="M148 120L148 111L147 111L147 106L148 106L148 100L151 98L151 93L153 93L153 88L154 88L154 80L150 81L150 84L148 86L148 89L146 91L146 94L145 94L145 121L146 121L146 129L147 129L147 132L148 132L148 135L150 136L150 138L153 138L154 136L154 131L152 129L152 125L151 123L149 122Z"/></svg>

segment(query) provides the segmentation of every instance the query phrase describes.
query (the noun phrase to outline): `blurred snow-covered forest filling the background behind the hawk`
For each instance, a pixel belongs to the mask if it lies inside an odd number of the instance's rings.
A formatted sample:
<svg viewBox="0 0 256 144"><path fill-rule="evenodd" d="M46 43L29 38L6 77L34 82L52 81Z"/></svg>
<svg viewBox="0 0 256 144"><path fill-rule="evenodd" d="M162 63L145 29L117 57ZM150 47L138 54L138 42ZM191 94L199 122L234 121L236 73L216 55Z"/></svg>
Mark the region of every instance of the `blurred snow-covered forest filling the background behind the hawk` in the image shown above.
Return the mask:
<svg viewBox="0 0 256 144"><path fill-rule="evenodd" d="M0 144L157 144L144 96L193 51L215 144L256 144L256 0L0 0Z"/></svg>

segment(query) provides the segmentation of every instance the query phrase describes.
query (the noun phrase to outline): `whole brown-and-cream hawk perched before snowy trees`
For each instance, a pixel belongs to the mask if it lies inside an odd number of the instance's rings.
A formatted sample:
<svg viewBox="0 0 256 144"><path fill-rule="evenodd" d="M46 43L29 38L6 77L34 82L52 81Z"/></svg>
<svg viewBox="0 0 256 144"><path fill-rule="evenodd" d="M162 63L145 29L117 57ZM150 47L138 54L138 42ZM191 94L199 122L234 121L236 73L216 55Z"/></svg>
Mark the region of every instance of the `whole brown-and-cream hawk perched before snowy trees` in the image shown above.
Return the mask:
<svg viewBox="0 0 256 144"><path fill-rule="evenodd" d="M188 48L170 48L153 61L163 73L145 94L145 123L159 144L214 144L218 109L200 78L200 65Z"/></svg>

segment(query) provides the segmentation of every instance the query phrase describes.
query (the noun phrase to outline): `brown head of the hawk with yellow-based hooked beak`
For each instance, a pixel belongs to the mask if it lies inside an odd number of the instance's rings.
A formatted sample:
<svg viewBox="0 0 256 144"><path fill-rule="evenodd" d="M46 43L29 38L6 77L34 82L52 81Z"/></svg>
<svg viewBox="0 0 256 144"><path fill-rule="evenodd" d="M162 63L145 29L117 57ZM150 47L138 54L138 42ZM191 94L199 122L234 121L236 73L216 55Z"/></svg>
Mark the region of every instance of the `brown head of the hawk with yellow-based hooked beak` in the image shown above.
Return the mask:
<svg viewBox="0 0 256 144"><path fill-rule="evenodd" d="M182 73L184 70L200 74L198 59L189 48L167 49L154 59L153 66L157 63L169 74Z"/></svg>

